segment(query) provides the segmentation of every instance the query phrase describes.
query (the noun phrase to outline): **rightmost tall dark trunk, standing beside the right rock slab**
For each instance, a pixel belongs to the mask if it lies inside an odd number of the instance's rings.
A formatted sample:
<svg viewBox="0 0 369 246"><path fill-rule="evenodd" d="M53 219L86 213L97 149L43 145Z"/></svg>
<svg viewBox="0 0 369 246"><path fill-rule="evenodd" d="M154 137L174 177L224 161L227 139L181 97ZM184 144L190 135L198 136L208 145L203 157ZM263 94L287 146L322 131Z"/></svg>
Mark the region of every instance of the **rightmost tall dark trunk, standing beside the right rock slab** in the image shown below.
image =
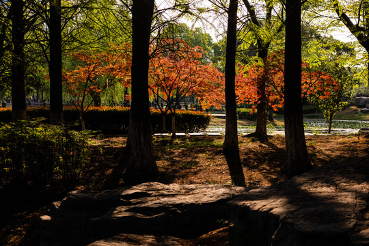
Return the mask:
<svg viewBox="0 0 369 246"><path fill-rule="evenodd" d="M286 0L286 56L284 64L284 124L288 176L302 174L312 165L308 159L301 102L301 1Z"/></svg>

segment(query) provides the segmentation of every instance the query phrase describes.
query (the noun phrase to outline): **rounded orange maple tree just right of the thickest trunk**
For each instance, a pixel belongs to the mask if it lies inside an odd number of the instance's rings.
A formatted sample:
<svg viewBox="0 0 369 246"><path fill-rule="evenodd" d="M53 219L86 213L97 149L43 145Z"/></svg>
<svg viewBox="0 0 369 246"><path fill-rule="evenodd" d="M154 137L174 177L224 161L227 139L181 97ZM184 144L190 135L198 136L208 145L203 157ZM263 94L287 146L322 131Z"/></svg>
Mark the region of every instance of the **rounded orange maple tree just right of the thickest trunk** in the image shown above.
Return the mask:
<svg viewBox="0 0 369 246"><path fill-rule="evenodd" d="M176 39L163 40L158 44L156 55L150 59L149 88L163 114L172 114L172 134L175 135L175 113L180 102L195 95L203 109L221 107L224 102L224 74L212 64L201 64L205 51L199 46L191 47ZM169 47L169 49L167 49ZM165 105L161 105L165 102Z"/></svg>

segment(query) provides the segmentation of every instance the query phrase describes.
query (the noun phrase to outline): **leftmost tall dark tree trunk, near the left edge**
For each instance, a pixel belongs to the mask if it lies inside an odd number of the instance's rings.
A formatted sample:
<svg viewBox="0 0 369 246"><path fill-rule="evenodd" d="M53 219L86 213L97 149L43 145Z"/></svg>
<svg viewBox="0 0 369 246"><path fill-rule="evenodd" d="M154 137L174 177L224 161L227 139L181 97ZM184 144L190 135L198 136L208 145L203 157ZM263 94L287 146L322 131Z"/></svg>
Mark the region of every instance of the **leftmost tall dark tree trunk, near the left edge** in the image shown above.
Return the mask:
<svg viewBox="0 0 369 246"><path fill-rule="evenodd" d="M23 0L12 0L12 120L27 120Z"/></svg>

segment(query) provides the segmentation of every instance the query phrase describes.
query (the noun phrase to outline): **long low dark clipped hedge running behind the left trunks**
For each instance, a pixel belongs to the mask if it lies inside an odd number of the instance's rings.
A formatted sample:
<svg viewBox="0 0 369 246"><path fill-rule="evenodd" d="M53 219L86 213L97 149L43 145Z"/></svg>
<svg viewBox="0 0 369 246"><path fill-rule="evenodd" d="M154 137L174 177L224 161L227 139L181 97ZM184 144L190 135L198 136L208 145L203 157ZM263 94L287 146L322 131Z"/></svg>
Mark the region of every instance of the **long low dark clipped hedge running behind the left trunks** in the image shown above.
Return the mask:
<svg viewBox="0 0 369 246"><path fill-rule="evenodd" d="M151 125L153 133L161 133L163 129L162 115L159 110L152 109ZM74 107L64 107L64 121L79 128L79 113ZM105 134L127 134L129 126L129 108L123 107L91 107L85 118L85 128L92 131L101 131ZM29 118L45 118L49 122L48 107L27 108ZM167 129L172 128L170 115L167 115ZM11 109L0 109L0 122L11 122ZM199 111L176 111L176 131L182 133L196 133L204 131L210 122L210 115Z"/></svg>

